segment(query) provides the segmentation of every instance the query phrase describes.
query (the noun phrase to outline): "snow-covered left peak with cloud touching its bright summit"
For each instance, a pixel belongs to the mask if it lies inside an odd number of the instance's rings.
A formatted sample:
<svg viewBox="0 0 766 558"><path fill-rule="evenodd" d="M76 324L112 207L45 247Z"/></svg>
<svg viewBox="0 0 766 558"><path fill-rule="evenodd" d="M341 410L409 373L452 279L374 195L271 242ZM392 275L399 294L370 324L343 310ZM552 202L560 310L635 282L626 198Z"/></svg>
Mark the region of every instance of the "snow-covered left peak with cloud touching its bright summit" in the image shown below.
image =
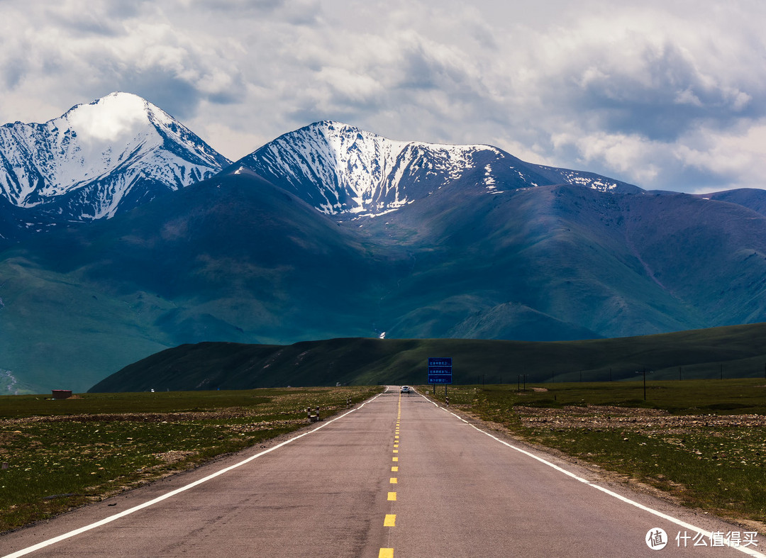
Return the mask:
<svg viewBox="0 0 766 558"><path fill-rule="evenodd" d="M172 116L131 93L110 93L44 124L0 127L0 195L68 220L111 217L226 164Z"/></svg>

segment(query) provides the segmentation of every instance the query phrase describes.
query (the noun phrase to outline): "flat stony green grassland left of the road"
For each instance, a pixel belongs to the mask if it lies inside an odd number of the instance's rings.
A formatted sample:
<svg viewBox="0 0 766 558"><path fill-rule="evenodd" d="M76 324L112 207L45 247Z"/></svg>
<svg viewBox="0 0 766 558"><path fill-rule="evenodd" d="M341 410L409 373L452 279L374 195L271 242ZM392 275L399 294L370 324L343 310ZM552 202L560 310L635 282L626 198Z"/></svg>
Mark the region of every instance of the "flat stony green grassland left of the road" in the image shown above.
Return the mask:
<svg viewBox="0 0 766 558"><path fill-rule="evenodd" d="M293 432L378 387L0 397L0 532Z"/></svg>

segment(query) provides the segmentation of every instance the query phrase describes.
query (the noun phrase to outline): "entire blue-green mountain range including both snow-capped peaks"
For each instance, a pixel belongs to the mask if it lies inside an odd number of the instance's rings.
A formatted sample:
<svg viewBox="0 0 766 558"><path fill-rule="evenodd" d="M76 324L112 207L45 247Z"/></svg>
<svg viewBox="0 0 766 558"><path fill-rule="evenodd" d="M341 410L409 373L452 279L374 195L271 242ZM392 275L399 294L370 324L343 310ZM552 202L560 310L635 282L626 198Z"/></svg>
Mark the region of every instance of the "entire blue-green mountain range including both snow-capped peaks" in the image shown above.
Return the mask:
<svg viewBox="0 0 766 558"><path fill-rule="evenodd" d="M86 390L200 341L565 341L766 321L764 191L643 191L329 121L229 162L113 95L87 110L135 111L119 112L119 145L67 115L2 127L0 393Z"/></svg>

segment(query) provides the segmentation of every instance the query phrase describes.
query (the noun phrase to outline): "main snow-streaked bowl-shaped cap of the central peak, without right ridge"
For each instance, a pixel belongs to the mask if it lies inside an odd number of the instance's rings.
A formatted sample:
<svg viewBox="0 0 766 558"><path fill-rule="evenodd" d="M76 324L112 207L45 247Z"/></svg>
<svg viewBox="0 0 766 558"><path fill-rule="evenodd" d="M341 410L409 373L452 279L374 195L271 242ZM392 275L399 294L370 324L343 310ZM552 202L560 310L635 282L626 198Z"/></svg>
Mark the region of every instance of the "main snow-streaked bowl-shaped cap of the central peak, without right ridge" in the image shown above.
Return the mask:
<svg viewBox="0 0 766 558"><path fill-rule="evenodd" d="M322 120L281 135L238 165L326 214L375 215L481 170L484 158L498 155L489 145L402 142Z"/></svg>

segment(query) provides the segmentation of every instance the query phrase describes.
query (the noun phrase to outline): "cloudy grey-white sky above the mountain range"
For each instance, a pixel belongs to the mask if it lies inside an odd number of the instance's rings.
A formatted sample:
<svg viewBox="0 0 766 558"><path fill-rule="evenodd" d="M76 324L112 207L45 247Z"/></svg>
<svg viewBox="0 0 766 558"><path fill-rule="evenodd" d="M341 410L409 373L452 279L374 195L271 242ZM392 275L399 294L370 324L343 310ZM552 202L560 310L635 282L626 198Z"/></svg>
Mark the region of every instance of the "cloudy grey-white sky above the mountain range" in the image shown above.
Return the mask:
<svg viewBox="0 0 766 558"><path fill-rule="evenodd" d="M0 122L120 90L232 159L336 119L643 188L766 188L764 24L761 0L0 0Z"/></svg>

